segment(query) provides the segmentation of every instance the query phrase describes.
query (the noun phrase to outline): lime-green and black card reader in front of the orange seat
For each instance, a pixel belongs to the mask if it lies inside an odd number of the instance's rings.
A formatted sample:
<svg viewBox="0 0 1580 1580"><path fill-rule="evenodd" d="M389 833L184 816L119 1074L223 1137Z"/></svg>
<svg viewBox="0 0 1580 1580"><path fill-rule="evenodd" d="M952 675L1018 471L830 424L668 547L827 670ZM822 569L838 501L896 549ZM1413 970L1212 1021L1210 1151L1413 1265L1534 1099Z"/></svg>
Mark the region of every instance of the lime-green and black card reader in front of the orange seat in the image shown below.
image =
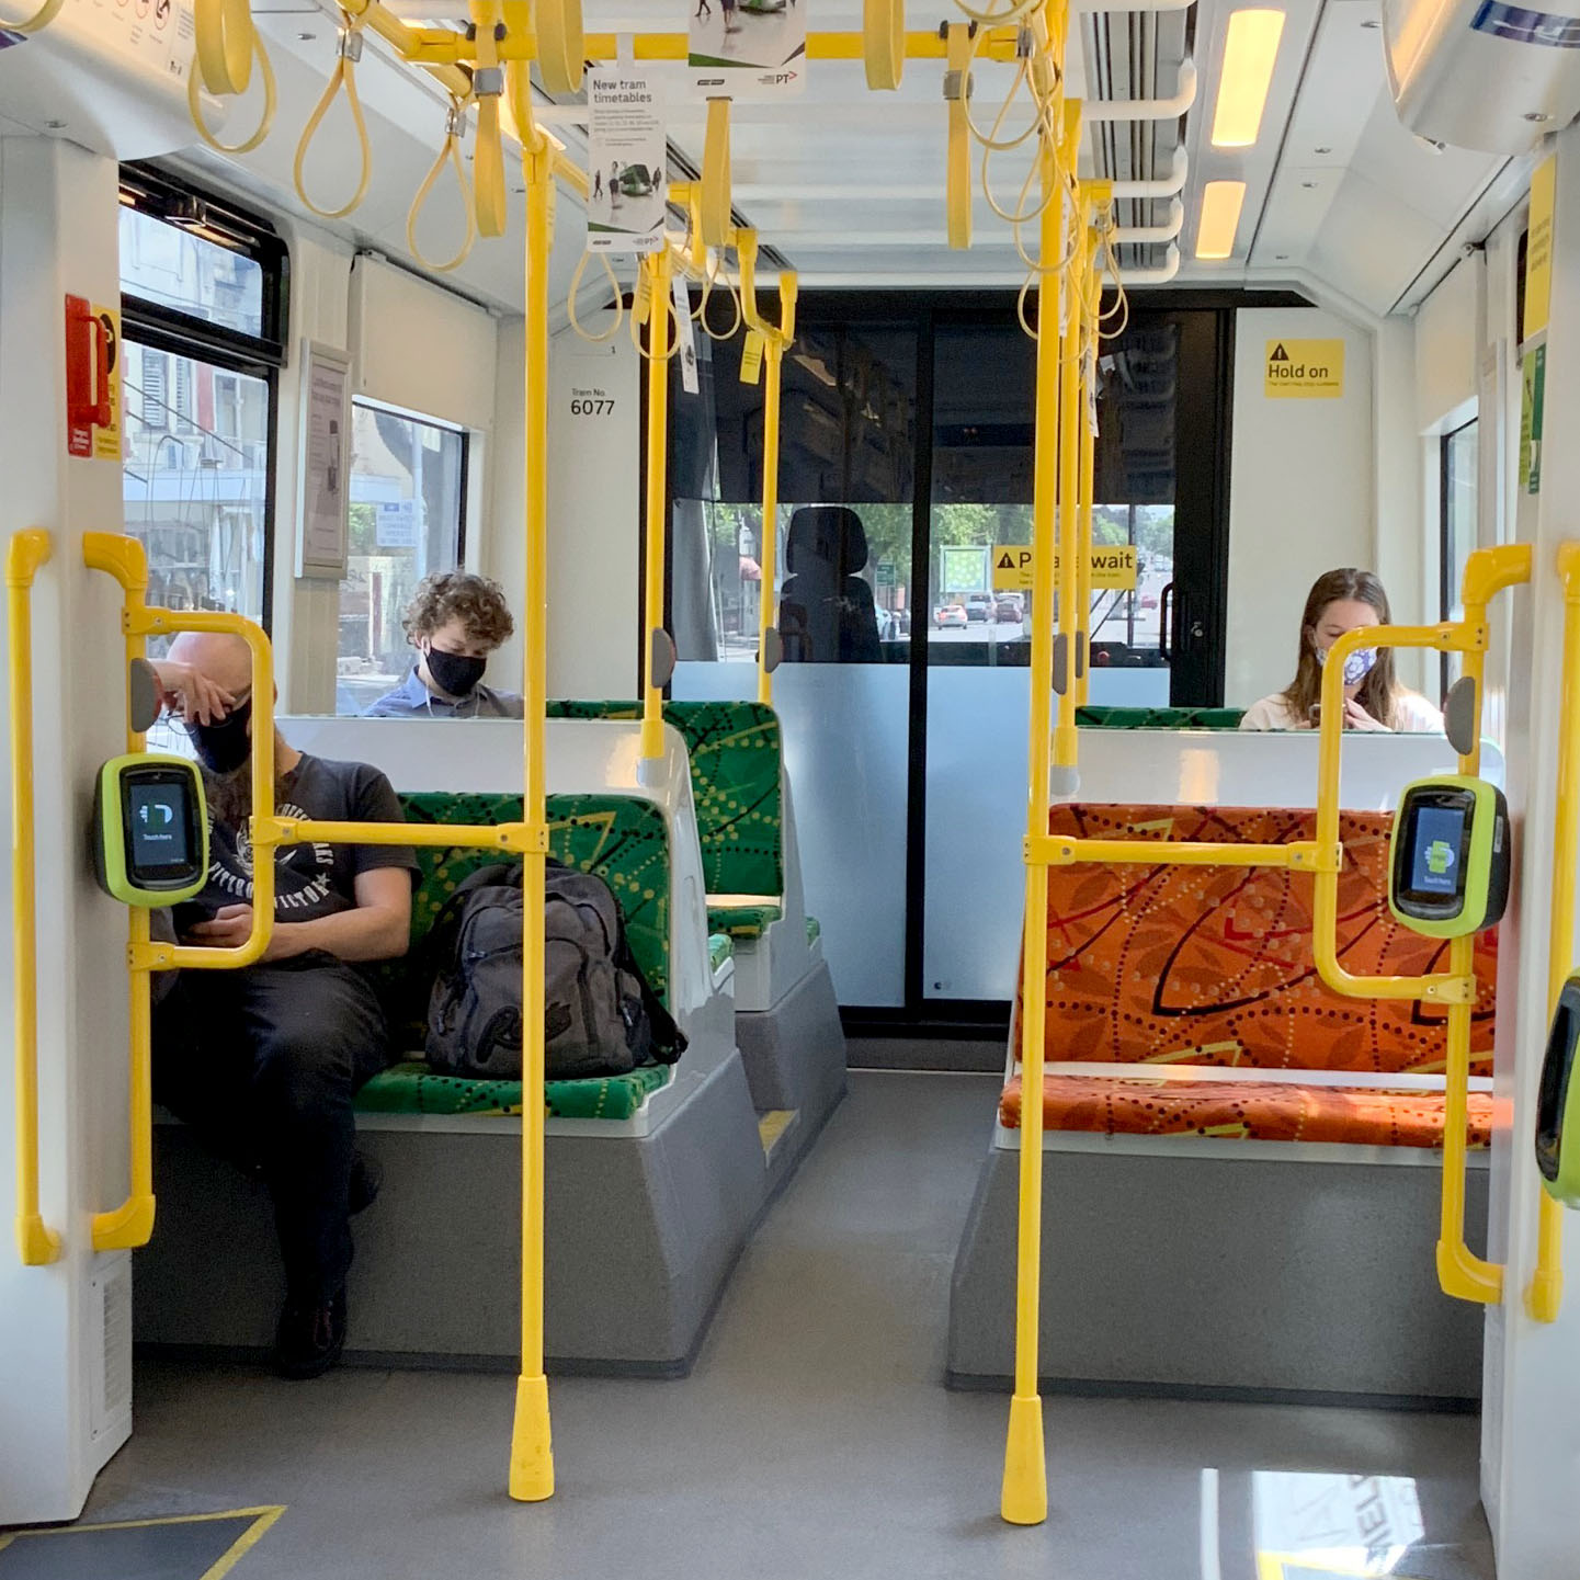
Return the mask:
<svg viewBox="0 0 1580 1580"><path fill-rule="evenodd" d="M1389 908L1433 939L1495 927L1509 902L1509 806L1485 779L1405 787L1389 847Z"/></svg>

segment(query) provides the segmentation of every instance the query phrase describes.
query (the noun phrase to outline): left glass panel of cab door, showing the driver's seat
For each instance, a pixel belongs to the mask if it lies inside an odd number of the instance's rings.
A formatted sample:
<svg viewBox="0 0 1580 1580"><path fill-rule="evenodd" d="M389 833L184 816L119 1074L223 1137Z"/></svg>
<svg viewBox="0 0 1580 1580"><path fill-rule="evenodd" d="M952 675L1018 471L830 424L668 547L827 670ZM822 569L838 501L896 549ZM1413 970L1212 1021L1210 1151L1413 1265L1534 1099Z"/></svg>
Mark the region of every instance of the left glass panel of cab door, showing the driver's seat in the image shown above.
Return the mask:
<svg viewBox="0 0 1580 1580"><path fill-rule="evenodd" d="M762 386L739 340L672 386L670 608L681 700L754 698L760 600L781 596L774 676L806 910L844 1005L905 1002L910 763L912 330L804 327L785 357L777 553L762 532Z"/></svg>

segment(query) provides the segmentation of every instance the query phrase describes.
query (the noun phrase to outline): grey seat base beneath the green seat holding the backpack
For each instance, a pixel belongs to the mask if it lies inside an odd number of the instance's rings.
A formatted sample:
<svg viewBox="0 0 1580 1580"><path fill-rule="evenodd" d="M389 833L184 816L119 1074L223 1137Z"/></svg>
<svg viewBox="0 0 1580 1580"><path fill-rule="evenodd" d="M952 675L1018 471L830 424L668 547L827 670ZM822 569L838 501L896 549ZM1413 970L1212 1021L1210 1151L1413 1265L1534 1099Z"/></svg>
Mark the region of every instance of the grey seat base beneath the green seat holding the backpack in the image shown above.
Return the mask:
<svg viewBox="0 0 1580 1580"><path fill-rule="evenodd" d="M520 1346L520 1125L362 1115L384 1168L354 1220L348 1359L499 1367ZM732 1049L646 1136L550 1134L548 1370L683 1376L768 1191ZM155 1142L158 1224L134 1261L139 1343L264 1349L283 1296L267 1193L191 1131Z"/></svg>

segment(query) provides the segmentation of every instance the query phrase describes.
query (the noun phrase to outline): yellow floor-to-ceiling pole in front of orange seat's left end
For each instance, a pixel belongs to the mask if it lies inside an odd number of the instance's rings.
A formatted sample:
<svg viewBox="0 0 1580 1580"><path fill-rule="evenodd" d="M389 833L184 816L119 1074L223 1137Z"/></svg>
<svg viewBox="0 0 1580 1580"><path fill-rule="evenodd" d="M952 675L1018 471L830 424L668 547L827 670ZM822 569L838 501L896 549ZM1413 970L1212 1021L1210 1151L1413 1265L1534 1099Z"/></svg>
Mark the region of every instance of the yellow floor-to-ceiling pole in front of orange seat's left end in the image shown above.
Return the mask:
<svg viewBox="0 0 1580 1580"><path fill-rule="evenodd" d="M1043 147L1043 196L1059 186L1059 161ZM1043 259L1059 258L1063 207L1041 220ZM1032 717L1027 841L1048 833L1048 743L1054 687L1054 501L1059 483L1059 278L1036 288L1036 431L1032 447ZM1027 844L1025 927L1021 940L1021 1202L1014 1267L1014 1395L999 1510L1013 1525L1048 1518L1043 1401L1036 1392L1043 1256L1043 1051L1048 1032L1048 867Z"/></svg>

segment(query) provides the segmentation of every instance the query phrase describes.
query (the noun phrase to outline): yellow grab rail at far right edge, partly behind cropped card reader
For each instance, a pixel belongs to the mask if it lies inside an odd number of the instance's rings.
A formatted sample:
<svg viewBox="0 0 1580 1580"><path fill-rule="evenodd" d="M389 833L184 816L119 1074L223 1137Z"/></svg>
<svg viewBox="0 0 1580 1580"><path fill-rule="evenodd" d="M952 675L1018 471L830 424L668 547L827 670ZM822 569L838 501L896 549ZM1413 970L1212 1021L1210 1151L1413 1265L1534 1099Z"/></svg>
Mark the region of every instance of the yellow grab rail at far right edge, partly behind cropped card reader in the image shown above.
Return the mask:
<svg viewBox="0 0 1580 1580"><path fill-rule="evenodd" d="M1580 858L1580 544L1561 544L1558 575L1564 583L1564 668L1558 705L1558 788L1553 804L1553 875L1547 940L1547 1019L1574 961L1575 861ZM1525 1308L1537 1322L1556 1322L1564 1294L1564 1212L1540 1191L1536 1220L1536 1269Z"/></svg>

